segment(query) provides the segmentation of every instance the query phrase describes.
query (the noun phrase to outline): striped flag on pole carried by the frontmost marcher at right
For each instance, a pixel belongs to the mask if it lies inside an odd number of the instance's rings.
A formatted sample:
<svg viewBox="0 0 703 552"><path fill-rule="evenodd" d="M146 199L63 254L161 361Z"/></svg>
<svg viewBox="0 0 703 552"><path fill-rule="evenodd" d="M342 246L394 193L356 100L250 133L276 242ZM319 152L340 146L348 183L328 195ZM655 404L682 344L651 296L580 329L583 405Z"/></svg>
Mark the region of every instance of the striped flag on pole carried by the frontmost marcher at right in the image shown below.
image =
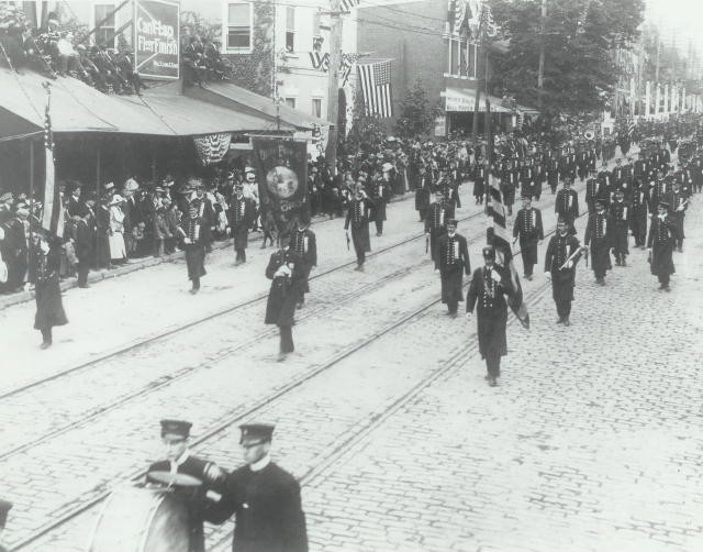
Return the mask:
<svg viewBox="0 0 703 552"><path fill-rule="evenodd" d="M493 134L490 121L491 104L486 99L486 121L487 121L487 141L488 141L488 175L489 175L489 201L487 205L487 214L491 219L492 228L488 229L489 243L495 249L495 262L510 271L511 289L506 292L507 305L520 320L523 328L529 329L529 313L523 297L523 288L520 284L520 277L513 263L513 250L511 245L511 233L506 227L505 205L503 203L503 192L501 191L500 179L491 170L493 163Z"/></svg>

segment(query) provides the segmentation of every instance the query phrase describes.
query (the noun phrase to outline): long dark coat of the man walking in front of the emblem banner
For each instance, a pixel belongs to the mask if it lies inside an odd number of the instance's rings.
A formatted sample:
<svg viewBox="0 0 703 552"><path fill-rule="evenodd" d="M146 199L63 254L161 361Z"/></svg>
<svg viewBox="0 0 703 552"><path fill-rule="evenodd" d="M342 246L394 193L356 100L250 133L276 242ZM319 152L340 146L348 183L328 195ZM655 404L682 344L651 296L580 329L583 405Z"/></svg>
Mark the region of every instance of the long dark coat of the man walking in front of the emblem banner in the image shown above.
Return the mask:
<svg viewBox="0 0 703 552"><path fill-rule="evenodd" d="M293 265L290 276L275 276L281 265L290 263ZM266 302L264 323L288 327L295 323L295 303L300 299L302 288L302 257L291 250L271 254L266 267L266 277L272 281Z"/></svg>

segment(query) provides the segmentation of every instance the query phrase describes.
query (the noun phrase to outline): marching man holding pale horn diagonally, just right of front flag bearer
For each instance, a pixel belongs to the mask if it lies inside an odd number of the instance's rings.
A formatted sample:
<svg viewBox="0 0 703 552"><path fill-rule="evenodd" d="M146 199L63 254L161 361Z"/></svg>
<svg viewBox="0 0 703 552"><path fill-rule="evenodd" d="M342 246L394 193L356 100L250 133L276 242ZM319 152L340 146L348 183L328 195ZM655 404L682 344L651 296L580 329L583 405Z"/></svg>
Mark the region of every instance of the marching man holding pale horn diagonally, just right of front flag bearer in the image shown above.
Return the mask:
<svg viewBox="0 0 703 552"><path fill-rule="evenodd" d="M581 258L579 240L569 234L567 221L559 219L557 233L549 240L545 255L545 276L551 279L551 297L557 306L558 324L570 325L576 264Z"/></svg>

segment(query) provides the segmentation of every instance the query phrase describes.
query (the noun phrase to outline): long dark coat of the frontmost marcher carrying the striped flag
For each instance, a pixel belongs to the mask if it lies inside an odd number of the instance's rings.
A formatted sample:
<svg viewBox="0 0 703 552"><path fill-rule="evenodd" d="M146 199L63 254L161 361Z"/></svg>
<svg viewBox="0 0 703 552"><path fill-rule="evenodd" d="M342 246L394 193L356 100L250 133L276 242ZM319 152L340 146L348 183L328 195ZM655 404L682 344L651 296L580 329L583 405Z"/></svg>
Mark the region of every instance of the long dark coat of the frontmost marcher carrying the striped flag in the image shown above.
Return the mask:
<svg viewBox="0 0 703 552"><path fill-rule="evenodd" d="M496 271L501 281L495 283L490 273ZM466 310L473 312L476 307L479 352L481 357L488 353L501 356L507 354L507 302L503 294L510 288L510 274L501 266L493 265L489 271L486 266L473 271L471 285L466 296Z"/></svg>

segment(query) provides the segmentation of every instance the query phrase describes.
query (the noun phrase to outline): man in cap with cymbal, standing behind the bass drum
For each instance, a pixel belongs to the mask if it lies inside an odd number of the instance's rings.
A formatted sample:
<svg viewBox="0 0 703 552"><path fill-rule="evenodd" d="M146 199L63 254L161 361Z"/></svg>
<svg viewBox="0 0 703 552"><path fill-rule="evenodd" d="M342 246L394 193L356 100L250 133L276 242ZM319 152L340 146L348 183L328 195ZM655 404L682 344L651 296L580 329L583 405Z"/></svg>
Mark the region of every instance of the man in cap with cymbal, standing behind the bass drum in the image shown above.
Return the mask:
<svg viewBox="0 0 703 552"><path fill-rule="evenodd" d="M225 474L212 462L193 456L188 449L192 424L182 420L161 420L161 441L166 460L149 466L147 484L168 485L188 510L189 552L204 552L203 520L221 498L215 490ZM187 477L179 477L179 474Z"/></svg>

